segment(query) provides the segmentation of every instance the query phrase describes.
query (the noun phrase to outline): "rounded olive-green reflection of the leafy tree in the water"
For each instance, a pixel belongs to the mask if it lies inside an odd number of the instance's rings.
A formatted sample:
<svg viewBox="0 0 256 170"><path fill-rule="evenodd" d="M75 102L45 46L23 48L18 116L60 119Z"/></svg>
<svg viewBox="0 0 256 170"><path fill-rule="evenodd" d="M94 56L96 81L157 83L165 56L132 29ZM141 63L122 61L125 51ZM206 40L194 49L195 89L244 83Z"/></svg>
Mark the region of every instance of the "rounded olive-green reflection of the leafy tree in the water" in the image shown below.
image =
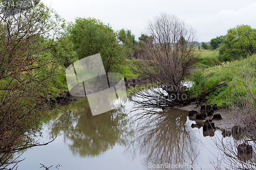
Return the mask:
<svg viewBox="0 0 256 170"><path fill-rule="evenodd" d="M93 116L86 98L63 107L52 135L63 134L74 155L97 156L127 142L127 115L122 109ZM72 110L72 111L71 111Z"/></svg>

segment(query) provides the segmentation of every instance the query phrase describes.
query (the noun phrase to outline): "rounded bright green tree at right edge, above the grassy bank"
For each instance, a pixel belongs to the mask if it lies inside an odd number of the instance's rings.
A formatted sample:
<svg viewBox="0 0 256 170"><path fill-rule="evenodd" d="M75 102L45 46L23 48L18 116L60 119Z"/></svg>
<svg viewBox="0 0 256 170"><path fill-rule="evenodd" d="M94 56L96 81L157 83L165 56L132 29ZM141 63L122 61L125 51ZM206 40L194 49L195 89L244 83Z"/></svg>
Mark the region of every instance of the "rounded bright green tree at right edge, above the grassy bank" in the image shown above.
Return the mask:
<svg viewBox="0 0 256 170"><path fill-rule="evenodd" d="M223 61L246 58L256 52L256 29L239 25L228 30L226 39L220 44L219 54Z"/></svg>

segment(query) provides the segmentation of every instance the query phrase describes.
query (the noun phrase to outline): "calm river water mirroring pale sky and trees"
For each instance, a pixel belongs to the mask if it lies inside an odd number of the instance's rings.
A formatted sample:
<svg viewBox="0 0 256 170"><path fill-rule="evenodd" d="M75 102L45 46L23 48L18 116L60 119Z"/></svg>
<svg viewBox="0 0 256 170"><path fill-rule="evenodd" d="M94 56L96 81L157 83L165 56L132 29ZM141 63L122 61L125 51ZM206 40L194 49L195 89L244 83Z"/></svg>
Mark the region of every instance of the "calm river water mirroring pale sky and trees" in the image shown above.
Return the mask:
<svg viewBox="0 0 256 170"><path fill-rule="evenodd" d="M147 114L145 114L147 112ZM127 100L117 109L92 116L86 98L51 113L40 143L28 149L18 169L215 169L221 131L191 128L188 111L136 109ZM54 119L57 119L54 121ZM41 165L42 164L42 165ZM41 168L40 168L41 167ZM161 168L162 167L162 168Z"/></svg>

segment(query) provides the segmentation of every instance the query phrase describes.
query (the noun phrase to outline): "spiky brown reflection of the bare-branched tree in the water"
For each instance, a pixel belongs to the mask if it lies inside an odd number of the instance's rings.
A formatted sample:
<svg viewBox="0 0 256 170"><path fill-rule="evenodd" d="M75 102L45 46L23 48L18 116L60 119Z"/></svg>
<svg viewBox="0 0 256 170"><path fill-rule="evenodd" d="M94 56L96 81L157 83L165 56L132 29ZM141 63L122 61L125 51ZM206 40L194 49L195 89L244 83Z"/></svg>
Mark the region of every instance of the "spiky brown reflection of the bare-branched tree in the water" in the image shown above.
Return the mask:
<svg viewBox="0 0 256 170"><path fill-rule="evenodd" d="M136 139L126 150L146 155L145 164L192 163L199 153L198 141L186 124L187 111L147 111L136 114Z"/></svg>

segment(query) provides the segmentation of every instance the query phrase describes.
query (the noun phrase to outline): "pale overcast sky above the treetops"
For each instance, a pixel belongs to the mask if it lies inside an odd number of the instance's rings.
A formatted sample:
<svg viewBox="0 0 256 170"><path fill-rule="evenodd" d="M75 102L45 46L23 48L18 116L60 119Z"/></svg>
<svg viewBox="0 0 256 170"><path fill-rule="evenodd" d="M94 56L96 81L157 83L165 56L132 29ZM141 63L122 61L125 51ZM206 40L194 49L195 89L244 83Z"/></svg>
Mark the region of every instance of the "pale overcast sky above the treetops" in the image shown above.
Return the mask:
<svg viewBox="0 0 256 170"><path fill-rule="evenodd" d="M255 0L130 0L82 1L41 0L66 21L92 17L109 23L114 30L129 29L138 38L148 20L165 12L175 14L197 31L198 41L210 41L237 25L256 28Z"/></svg>

